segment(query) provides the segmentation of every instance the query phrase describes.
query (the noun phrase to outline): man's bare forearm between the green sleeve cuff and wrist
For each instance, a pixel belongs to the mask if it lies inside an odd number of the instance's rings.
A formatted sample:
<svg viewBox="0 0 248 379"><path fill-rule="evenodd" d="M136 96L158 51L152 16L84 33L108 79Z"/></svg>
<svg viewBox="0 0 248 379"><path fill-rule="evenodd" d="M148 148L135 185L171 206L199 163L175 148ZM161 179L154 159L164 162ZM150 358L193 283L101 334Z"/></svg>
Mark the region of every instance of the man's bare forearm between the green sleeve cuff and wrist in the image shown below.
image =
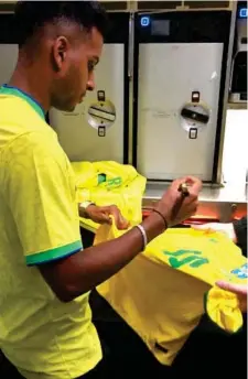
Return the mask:
<svg viewBox="0 0 248 379"><path fill-rule="evenodd" d="M142 225L148 241L164 230L163 219L158 214L151 215ZM65 259L62 264L54 263L57 266L56 271L51 263L40 270L57 296L67 302L116 274L141 252L142 248L142 235L138 228L133 228L118 239L75 253L73 259Z"/></svg>

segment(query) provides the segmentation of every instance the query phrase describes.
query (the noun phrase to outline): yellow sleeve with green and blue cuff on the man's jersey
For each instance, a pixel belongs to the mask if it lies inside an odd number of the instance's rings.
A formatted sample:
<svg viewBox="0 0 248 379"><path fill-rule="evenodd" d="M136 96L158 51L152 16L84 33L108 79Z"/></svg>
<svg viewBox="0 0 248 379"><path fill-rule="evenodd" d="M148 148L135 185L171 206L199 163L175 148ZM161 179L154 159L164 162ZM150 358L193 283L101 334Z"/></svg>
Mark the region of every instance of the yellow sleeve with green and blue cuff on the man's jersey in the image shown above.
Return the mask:
<svg viewBox="0 0 248 379"><path fill-rule="evenodd" d="M76 188L55 137L33 132L4 151L3 192L28 266L65 258L82 247Z"/></svg>

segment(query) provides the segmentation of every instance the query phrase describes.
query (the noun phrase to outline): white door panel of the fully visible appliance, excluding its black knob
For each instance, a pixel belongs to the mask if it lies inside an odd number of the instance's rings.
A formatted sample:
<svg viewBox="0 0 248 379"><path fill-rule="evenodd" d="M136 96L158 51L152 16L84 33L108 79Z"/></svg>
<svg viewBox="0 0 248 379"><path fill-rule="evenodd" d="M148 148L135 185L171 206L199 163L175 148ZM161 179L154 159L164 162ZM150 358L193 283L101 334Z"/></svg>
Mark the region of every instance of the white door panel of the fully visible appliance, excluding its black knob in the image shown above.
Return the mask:
<svg viewBox="0 0 248 379"><path fill-rule="evenodd" d="M222 58L222 43L140 44L137 165L149 180L212 180ZM196 139L181 118L193 91L209 109Z"/></svg>

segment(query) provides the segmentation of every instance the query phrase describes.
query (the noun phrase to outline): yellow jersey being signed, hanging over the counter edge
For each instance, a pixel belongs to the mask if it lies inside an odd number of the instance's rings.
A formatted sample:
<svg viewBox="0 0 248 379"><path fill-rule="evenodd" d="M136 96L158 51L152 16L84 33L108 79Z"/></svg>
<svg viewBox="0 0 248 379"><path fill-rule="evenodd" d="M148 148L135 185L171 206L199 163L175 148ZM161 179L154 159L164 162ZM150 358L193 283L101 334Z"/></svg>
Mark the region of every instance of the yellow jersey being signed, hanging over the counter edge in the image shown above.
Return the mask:
<svg viewBox="0 0 248 379"><path fill-rule="evenodd" d="M95 245L119 237L101 226ZM164 365L171 365L206 311L223 329L242 325L236 295L217 289L219 279L247 283L247 259L222 234L173 228L150 242L98 292Z"/></svg>

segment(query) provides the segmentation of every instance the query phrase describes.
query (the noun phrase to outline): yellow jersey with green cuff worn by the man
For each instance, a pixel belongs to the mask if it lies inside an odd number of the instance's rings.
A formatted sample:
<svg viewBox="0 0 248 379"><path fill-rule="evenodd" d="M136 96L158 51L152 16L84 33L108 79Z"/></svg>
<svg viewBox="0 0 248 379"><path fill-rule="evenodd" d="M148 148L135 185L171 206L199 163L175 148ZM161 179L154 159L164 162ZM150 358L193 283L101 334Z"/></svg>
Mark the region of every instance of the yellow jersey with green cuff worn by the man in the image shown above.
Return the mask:
<svg viewBox="0 0 248 379"><path fill-rule="evenodd" d="M40 105L0 87L0 348L26 379L74 379L101 359L84 294L62 303L37 266L82 249L71 163Z"/></svg>

